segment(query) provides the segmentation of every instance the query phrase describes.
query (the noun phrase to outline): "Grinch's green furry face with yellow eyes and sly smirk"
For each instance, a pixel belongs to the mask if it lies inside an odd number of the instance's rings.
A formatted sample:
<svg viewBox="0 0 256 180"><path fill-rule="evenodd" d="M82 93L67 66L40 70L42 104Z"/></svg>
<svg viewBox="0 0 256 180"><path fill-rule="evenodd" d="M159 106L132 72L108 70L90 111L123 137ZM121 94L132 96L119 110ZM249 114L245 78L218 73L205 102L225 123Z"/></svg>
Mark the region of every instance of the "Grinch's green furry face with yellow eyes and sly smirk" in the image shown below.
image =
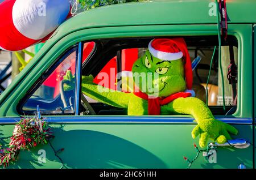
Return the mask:
<svg viewBox="0 0 256 180"><path fill-rule="evenodd" d="M185 90L183 59L162 61L147 50L132 71L135 85L148 95L166 97Z"/></svg>

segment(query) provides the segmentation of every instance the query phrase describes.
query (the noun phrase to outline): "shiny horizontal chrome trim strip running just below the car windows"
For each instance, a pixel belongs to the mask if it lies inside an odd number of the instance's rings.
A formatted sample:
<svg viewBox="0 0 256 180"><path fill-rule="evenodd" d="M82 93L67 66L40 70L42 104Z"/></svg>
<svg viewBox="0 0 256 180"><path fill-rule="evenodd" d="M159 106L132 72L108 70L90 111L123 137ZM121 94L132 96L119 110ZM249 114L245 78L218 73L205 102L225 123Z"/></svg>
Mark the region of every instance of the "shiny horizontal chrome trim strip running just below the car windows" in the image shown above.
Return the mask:
<svg viewBox="0 0 256 180"><path fill-rule="evenodd" d="M120 116L86 116L86 117L45 117L49 123L150 123L150 124L196 124L190 117L120 117ZM222 122L234 125L253 125L253 118L216 118ZM16 118L0 118L0 125L13 124L20 120Z"/></svg>

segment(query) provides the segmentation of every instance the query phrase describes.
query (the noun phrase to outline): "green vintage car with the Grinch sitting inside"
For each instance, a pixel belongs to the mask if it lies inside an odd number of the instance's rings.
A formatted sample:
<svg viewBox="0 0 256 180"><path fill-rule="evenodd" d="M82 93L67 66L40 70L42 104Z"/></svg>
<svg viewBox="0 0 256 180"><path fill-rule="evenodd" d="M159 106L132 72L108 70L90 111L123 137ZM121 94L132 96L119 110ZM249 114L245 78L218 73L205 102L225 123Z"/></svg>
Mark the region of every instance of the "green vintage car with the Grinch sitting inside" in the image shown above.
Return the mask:
<svg viewBox="0 0 256 180"><path fill-rule="evenodd" d="M228 36L221 38L221 46L218 8L212 0L127 3L94 8L67 20L0 96L1 138L13 133L20 117L40 113L53 128L52 146L64 148L58 155L67 168L187 168L183 156L192 161L197 155L193 143L199 141L191 137L196 126L192 117L129 116L126 109L80 93L81 75L92 74L97 82L100 72L129 71L152 38L183 37L191 58L201 57L194 70L197 97L207 101L216 119L239 131L229 143L209 141L209 151L200 153L191 168L254 168L256 2L228 1L226 8ZM237 84L226 78L232 57ZM73 91L63 91L67 70L76 77ZM61 166L46 144L20 152L9 168Z"/></svg>

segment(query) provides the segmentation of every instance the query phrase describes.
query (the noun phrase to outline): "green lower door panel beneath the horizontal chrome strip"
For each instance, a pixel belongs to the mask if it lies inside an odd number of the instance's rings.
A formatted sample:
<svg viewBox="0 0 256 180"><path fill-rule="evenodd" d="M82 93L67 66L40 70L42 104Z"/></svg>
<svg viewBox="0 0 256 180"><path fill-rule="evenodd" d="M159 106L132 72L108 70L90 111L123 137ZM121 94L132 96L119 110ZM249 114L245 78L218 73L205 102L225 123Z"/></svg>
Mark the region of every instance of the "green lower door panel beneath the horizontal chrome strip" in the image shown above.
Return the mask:
<svg viewBox="0 0 256 180"><path fill-rule="evenodd" d="M73 118L75 120L76 117ZM90 118L89 118L90 119ZM88 117L84 117L88 121ZM94 120L95 121L95 120ZM195 124L176 123L59 123L51 124L56 149L68 168L187 168L196 156L191 138ZM240 131L237 138L252 141L251 125L234 125ZM11 132L13 125L5 125ZM6 136L9 134L5 134ZM46 163L38 163L38 152L46 151ZM191 168L238 168L245 164L253 168L253 147L246 149L218 148L217 163L210 164L203 155ZM58 161L58 163L56 162ZM39 145L31 152L21 152L10 168L60 168L49 145Z"/></svg>

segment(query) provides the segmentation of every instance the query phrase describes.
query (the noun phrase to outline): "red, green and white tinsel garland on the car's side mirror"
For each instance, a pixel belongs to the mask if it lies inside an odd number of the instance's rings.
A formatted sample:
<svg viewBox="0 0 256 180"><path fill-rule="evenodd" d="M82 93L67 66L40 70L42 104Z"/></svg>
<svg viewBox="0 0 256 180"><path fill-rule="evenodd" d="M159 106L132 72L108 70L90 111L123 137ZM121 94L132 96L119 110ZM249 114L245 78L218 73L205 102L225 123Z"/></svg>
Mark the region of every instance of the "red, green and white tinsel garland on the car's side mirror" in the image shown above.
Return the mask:
<svg viewBox="0 0 256 180"><path fill-rule="evenodd" d="M52 138L52 131L44 119L22 118L13 131L9 147L1 149L0 144L0 166L9 166L10 161L16 160L20 150L28 150L38 144L47 144Z"/></svg>

